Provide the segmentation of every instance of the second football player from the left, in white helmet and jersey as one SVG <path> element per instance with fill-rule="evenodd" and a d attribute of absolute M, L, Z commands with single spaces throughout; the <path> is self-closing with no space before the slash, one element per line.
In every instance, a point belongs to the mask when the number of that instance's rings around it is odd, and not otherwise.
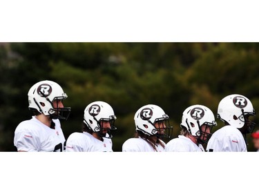
<path fill-rule="evenodd" d="M 82 133 L 72 133 L 66 152 L 112 152 L 111 130 L 116 130 L 113 108 L 104 101 L 94 101 L 84 110 Z"/>

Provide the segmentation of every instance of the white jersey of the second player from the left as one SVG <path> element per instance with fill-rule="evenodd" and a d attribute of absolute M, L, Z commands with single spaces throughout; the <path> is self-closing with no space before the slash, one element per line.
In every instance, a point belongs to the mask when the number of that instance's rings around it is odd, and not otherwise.
<path fill-rule="evenodd" d="M 66 152 L 112 152 L 113 142 L 103 138 L 104 142 L 90 135 L 90 133 L 72 133 L 66 141 Z"/>

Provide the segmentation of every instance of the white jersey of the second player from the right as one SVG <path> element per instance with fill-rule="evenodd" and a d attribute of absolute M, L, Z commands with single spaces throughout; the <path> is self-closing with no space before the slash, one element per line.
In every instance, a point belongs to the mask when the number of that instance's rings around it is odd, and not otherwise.
<path fill-rule="evenodd" d="M 202 144 L 195 144 L 190 138 L 178 135 L 166 144 L 166 152 L 204 152 Z"/>

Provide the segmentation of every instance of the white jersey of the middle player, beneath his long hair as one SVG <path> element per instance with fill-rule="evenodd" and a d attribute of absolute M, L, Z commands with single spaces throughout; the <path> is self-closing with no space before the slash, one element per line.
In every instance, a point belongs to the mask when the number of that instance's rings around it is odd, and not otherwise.
<path fill-rule="evenodd" d="M 162 142 L 162 140 L 160 141 Z M 164 142 L 162 144 L 166 145 Z M 164 152 L 164 148 L 160 144 L 155 144 L 155 148 L 156 150 L 141 137 L 128 139 L 122 145 L 123 152 Z"/>

